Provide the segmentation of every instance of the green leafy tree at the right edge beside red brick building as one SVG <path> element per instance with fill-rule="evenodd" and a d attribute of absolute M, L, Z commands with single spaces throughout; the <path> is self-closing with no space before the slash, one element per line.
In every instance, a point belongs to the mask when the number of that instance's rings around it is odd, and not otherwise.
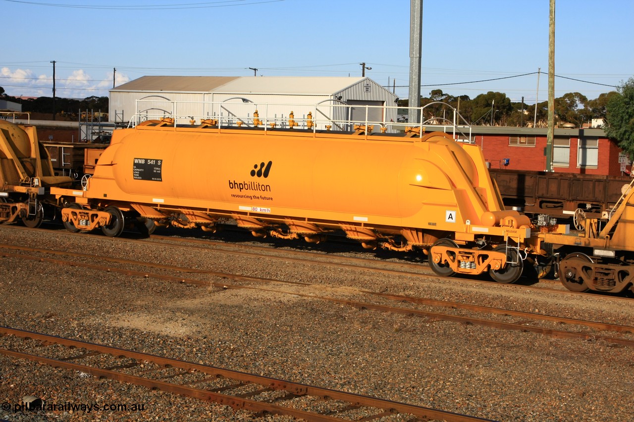
<path fill-rule="evenodd" d="M 605 134 L 634 159 L 634 78 L 610 97 L 605 112 Z"/>

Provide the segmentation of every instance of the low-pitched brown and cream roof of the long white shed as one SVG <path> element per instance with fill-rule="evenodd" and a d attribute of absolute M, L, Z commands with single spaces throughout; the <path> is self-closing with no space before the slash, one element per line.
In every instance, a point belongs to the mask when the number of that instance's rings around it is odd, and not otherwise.
<path fill-rule="evenodd" d="M 333 94 L 365 77 L 143 76 L 110 91 L 197 93 Z"/>

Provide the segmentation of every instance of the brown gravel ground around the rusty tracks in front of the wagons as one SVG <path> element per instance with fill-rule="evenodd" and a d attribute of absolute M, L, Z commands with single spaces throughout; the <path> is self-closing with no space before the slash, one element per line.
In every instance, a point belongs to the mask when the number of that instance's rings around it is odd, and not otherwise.
<path fill-rule="evenodd" d="M 634 325 L 631 305 L 606 297 L 570 298 L 494 283 L 448 283 L 326 264 L 184 252 L 65 231 L 0 226 L 0 238 L 15 245 L 302 281 L 312 285 L 264 287 L 314 295 L 378 302 L 358 290 L 387 290 Z M 183 277 L 218 281 L 208 274 Z M 499 421 L 628 421 L 634 411 L 634 350 L 603 341 L 562 340 L 284 293 L 193 287 L 11 257 L 0 257 L 0 280 L 4 326 Z M 9 357 L 0 356 L 0 371 L 0 402 L 10 406 L 0 410 L 0 419 L 9 421 L 288 420 L 257 418 Z M 136 404 L 143 409 L 16 411 L 25 395 L 56 406 Z"/>

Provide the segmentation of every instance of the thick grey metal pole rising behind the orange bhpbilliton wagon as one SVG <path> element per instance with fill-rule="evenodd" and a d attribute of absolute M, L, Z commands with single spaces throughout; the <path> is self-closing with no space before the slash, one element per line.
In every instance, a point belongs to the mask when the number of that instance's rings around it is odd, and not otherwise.
<path fill-rule="evenodd" d="M 420 53 L 422 51 L 423 0 L 410 0 L 410 95 L 408 122 L 420 123 Z M 415 107 L 415 109 L 413 108 Z"/>

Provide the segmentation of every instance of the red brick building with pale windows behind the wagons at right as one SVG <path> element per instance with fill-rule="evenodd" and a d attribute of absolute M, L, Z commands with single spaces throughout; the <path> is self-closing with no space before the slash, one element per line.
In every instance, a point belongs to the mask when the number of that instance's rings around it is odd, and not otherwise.
<path fill-rule="evenodd" d="M 473 126 L 471 138 L 493 169 L 547 170 L 545 128 Z M 631 162 L 603 129 L 555 129 L 552 148 L 554 172 L 627 176 L 631 171 Z"/>

